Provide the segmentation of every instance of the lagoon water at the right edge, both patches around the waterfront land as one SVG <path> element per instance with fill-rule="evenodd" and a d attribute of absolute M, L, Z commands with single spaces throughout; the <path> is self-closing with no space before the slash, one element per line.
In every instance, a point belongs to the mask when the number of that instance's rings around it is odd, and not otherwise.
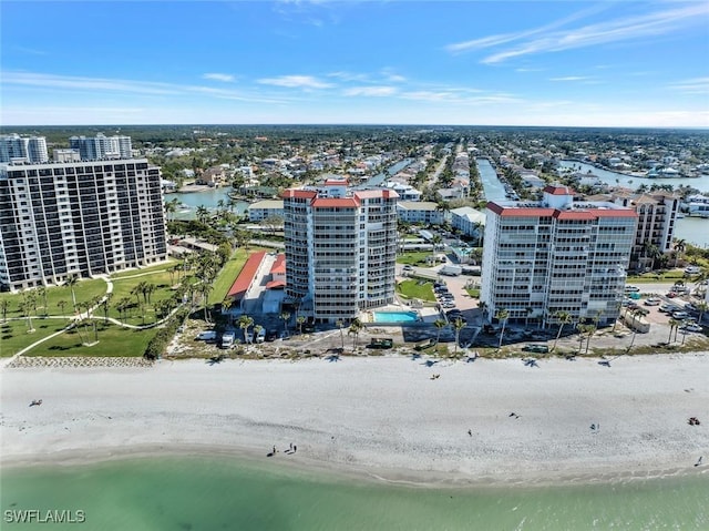
<path fill-rule="evenodd" d="M 609 172 L 607 170 L 576 161 L 561 161 L 559 166 L 572 167 L 580 173 L 588 173 L 590 171 L 602 182 L 612 186 L 620 185 L 636 190 L 643 184 L 647 186 L 651 186 L 653 184 L 671 184 L 675 187 L 686 185 L 705 193 L 709 192 L 709 175 L 702 175 L 701 177 L 696 178 L 644 178 Z M 677 219 L 675 225 L 675 237 L 685 239 L 698 247 L 709 248 L 709 219 L 702 219 L 700 217 L 684 217 Z"/>

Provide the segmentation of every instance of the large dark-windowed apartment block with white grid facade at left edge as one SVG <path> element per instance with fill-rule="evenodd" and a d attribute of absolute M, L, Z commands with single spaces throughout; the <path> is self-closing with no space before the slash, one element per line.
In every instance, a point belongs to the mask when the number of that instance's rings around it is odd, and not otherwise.
<path fill-rule="evenodd" d="M 146 159 L 0 164 L 0 289 L 165 259 L 160 184 Z"/>

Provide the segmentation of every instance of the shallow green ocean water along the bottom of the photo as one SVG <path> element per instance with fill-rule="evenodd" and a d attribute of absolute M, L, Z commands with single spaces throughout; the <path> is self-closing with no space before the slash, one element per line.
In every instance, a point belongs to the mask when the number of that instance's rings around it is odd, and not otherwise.
<path fill-rule="evenodd" d="M 280 461 L 280 462 L 279 462 Z M 709 477 L 592 486 L 420 488 L 229 457 L 10 468 L 2 530 L 707 530 Z M 14 523 L 19 511 L 83 523 Z M 10 512 L 8 512 L 10 511 Z"/>

